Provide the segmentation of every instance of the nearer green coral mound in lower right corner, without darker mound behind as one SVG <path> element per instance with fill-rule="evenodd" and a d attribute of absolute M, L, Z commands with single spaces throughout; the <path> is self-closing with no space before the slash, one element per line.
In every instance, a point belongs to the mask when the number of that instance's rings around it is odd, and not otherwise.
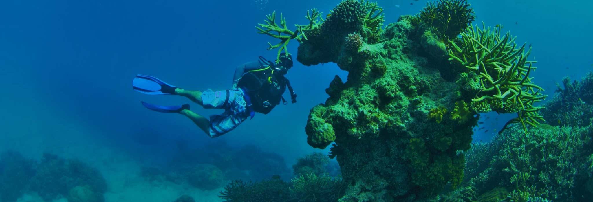
<path fill-rule="evenodd" d="M 524 133 L 519 126 L 466 153 L 468 185 L 498 201 L 586 201 L 593 190 L 593 126 L 551 127 Z M 481 200 L 485 201 L 485 200 Z"/>

